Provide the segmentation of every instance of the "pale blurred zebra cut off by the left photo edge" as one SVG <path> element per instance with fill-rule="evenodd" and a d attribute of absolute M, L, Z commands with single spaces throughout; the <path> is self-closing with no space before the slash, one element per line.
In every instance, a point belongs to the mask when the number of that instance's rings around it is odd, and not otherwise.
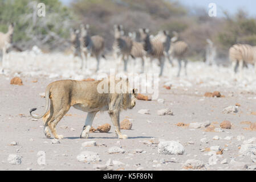
<path fill-rule="evenodd" d="M 13 33 L 14 33 L 14 24 L 11 23 L 8 27 L 8 31 L 4 34 L 0 32 L 0 49 L 2 49 L 2 72 L 5 68 L 6 61 L 6 51 L 13 46 Z"/>

